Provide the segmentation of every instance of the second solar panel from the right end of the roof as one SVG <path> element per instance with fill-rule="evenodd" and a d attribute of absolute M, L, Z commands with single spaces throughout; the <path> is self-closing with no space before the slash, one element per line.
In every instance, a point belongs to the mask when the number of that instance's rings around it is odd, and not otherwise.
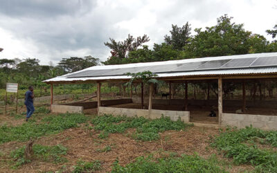
<path fill-rule="evenodd" d="M 256 59 L 256 57 L 233 59 L 224 64 L 220 69 L 249 67 Z"/>

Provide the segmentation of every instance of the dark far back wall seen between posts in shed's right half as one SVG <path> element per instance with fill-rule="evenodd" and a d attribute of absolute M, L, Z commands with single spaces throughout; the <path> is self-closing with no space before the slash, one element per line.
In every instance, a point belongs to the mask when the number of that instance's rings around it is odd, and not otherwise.
<path fill-rule="evenodd" d="M 133 98 L 134 103 L 141 103 L 141 98 Z M 148 99 L 145 98 L 145 103 L 148 103 Z M 164 105 L 184 105 L 184 99 L 153 99 L 152 104 L 164 104 Z M 189 105 L 193 106 L 217 106 L 218 100 L 188 100 Z M 260 108 L 273 108 L 277 105 L 276 100 L 247 100 L 247 107 L 260 107 Z M 242 100 L 223 100 L 223 107 L 242 107 Z"/>

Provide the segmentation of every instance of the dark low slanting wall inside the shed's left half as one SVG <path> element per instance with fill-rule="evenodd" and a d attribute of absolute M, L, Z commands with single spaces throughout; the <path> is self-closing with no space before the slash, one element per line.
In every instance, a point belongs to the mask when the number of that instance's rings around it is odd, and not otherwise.
<path fill-rule="evenodd" d="M 101 100 L 101 106 L 102 107 L 107 107 L 111 105 L 116 105 L 116 104 L 127 104 L 131 103 L 132 99 L 131 98 L 123 98 L 123 99 L 114 99 L 114 100 Z M 84 109 L 92 109 L 97 107 L 97 102 L 73 102 L 69 104 L 63 104 L 63 105 L 69 105 L 69 106 L 78 106 L 78 107 L 83 107 Z"/>

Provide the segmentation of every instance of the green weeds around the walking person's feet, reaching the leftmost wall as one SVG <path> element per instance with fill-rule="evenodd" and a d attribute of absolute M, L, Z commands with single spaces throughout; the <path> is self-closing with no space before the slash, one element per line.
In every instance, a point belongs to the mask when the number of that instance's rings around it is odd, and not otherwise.
<path fill-rule="evenodd" d="M 65 113 L 59 115 L 49 115 L 42 119 L 42 123 L 26 122 L 23 125 L 8 127 L 0 126 L 0 143 L 9 141 L 26 141 L 30 138 L 37 138 L 48 134 L 78 127 L 78 124 L 86 122 L 87 117 L 77 113 Z"/>

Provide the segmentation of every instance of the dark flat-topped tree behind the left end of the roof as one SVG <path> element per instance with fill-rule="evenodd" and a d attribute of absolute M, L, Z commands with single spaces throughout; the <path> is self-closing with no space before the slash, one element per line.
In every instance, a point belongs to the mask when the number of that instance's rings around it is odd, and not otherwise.
<path fill-rule="evenodd" d="M 91 66 L 97 66 L 99 64 L 99 59 L 91 57 L 90 55 L 86 57 L 70 57 L 62 58 L 58 64 L 64 71 L 71 73 Z"/>

